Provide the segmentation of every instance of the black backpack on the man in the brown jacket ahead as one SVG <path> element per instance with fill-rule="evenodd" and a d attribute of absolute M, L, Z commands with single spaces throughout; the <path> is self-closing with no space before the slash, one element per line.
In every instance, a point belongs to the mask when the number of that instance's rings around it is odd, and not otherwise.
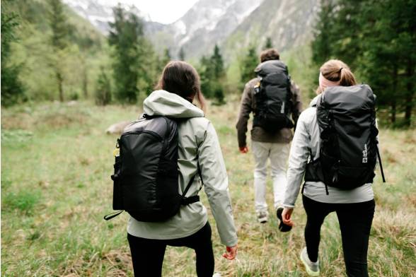
<path fill-rule="evenodd" d="M 279 60 L 265 61 L 255 69 L 255 73 L 260 82 L 254 88 L 253 126 L 260 126 L 269 133 L 293 128 L 289 118 L 292 94 L 287 66 Z"/>

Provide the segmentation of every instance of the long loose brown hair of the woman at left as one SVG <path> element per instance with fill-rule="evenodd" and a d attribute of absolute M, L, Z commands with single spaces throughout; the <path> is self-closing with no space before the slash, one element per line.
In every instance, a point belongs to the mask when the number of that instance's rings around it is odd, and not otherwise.
<path fill-rule="evenodd" d="M 195 68 L 185 61 L 169 61 L 163 69 L 156 89 L 175 93 L 190 102 L 196 97 L 202 110 L 205 111 L 207 107 L 201 92 L 200 76 Z"/>

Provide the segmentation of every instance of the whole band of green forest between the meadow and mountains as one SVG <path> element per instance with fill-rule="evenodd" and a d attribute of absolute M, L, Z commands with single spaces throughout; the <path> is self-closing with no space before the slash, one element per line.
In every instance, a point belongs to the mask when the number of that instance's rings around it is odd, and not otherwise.
<path fill-rule="evenodd" d="M 122 6 L 113 9 L 115 22 L 105 37 L 61 1 L 2 4 L 3 106 L 78 99 L 98 105 L 137 103 L 154 89 L 167 61 L 187 60 L 183 49 L 171 53 L 164 47 L 156 52 L 144 34 L 143 20 Z M 345 61 L 359 81 L 373 88 L 389 126 L 409 127 L 416 82 L 414 15 L 415 1 L 410 0 L 323 0 L 313 40 L 282 56 L 294 64 L 291 74 L 302 80 L 306 97 L 311 97 L 308 87 L 316 86 L 314 72 L 324 61 Z M 216 45 L 211 54 L 190 60 L 200 73 L 204 95 L 221 105 L 228 95 L 241 93 L 255 76 L 260 51 L 273 46 L 267 39 L 265 45 L 253 41 L 243 47 L 238 59 L 224 59 Z M 297 57 L 299 51 L 306 56 Z M 301 60 L 304 57 L 310 59 Z"/>

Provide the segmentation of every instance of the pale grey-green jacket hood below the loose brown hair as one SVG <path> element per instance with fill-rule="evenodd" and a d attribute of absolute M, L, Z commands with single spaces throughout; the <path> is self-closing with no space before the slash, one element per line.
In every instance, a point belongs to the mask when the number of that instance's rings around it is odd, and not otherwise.
<path fill-rule="evenodd" d="M 149 115 L 173 118 L 204 117 L 204 112 L 188 100 L 166 90 L 155 90 L 143 102 L 143 111 Z"/>

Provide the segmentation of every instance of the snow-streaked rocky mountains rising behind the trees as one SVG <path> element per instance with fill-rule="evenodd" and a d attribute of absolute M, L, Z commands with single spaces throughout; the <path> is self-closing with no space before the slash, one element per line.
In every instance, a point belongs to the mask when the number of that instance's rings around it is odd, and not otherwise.
<path fill-rule="evenodd" d="M 108 33 L 112 7 L 118 0 L 64 1 Z M 157 52 L 168 48 L 176 58 L 183 48 L 185 57 L 194 59 L 210 54 L 217 44 L 229 60 L 248 45 L 260 49 L 266 37 L 271 37 L 279 51 L 305 44 L 311 39 L 318 5 L 319 0 L 199 0 L 168 25 L 152 22 L 134 5 L 124 6 L 144 20 L 144 32 Z"/>

